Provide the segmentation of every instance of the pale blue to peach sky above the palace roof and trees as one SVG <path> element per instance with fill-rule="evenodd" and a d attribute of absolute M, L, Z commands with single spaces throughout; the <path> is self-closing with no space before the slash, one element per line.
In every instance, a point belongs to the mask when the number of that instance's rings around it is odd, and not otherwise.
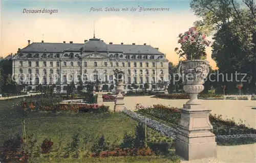
<path fill-rule="evenodd" d="M 177 64 L 178 35 L 199 18 L 189 7 L 190 1 L 5 1 L 1 3 L 0 56 L 16 53 L 31 42 L 83 43 L 93 37 L 105 43 L 146 43 L 166 54 Z M 98 9 L 98 11 L 94 10 Z M 100 10 L 101 8 L 101 10 Z M 106 9 L 107 8 L 107 9 Z M 126 9 L 127 8 L 127 9 Z M 140 11 L 163 8 L 163 11 Z M 57 10 L 56 13 L 26 13 L 31 10 Z M 116 11 L 118 10 L 119 11 Z M 122 11 L 122 9 L 126 9 Z M 136 10 L 135 10 L 136 9 Z M 106 11 L 107 10 L 107 11 Z M 108 11 L 109 10 L 109 11 Z M 112 10 L 112 11 L 110 11 Z M 113 11 L 115 10 L 115 11 Z M 208 37 L 210 40 L 211 37 Z M 212 68 L 210 47 L 207 60 Z"/>

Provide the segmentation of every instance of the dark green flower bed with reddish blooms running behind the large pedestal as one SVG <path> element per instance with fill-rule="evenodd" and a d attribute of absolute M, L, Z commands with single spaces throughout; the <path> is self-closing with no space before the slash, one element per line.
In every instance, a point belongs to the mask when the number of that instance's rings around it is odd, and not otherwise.
<path fill-rule="evenodd" d="M 180 110 L 177 107 L 168 107 L 160 104 L 152 107 L 143 107 L 137 104 L 136 109 L 137 113 L 148 114 L 174 125 L 178 125 L 180 122 Z M 256 129 L 246 127 L 242 123 L 235 123 L 234 120 L 224 120 L 221 115 L 210 114 L 209 120 L 213 126 L 212 132 L 216 135 L 256 134 Z"/>

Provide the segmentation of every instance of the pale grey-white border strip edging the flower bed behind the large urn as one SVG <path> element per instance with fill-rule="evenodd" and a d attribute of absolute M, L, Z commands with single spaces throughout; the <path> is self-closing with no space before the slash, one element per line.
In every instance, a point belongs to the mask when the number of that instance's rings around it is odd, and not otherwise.
<path fill-rule="evenodd" d="M 135 112 L 132 112 L 132 111 L 129 111 L 126 109 L 123 110 L 123 113 L 139 122 L 145 123 L 145 117 L 140 114 L 137 114 Z M 161 122 L 152 120 L 148 117 L 146 117 L 146 121 L 147 121 L 147 125 L 149 127 L 157 130 L 158 132 L 165 135 L 166 137 L 176 139 L 177 128 L 167 126 Z M 256 134 L 249 133 L 249 134 L 233 134 L 233 135 L 216 135 L 217 142 L 222 141 L 222 140 L 236 139 L 236 138 L 254 138 L 254 139 L 256 139 Z"/>

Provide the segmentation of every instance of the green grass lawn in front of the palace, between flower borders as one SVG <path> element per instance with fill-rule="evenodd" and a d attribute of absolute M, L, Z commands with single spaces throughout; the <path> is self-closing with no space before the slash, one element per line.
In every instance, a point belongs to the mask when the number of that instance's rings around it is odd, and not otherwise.
<path fill-rule="evenodd" d="M 39 97 L 28 97 L 28 101 L 38 100 Z M 19 99 L 0 101 L 0 145 L 3 145 L 11 138 L 17 138 L 22 134 L 22 117 L 15 109 L 15 103 Z M 17 106 L 16 106 L 17 107 Z M 25 118 L 27 136 L 36 139 L 36 145 L 40 146 L 45 138 L 54 142 L 53 155 L 51 158 L 40 157 L 38 162 L 174 162 L 163 156 L 146 157 L 109 157 L 109 158 L 55 158 L 58 150 L 65 149 L 71 143 L 74 135 L 78 135 L 79 150 L 86 147 L 91 148 L 101 135 L 104 135 L 106 142 L 110 145 L 120 145 L 125 133 L 134 135 L 137 121 L 127 117 L 123 113 L 111 114 L 69 114 L 32 112 Z M 153 133 L 156 140 L 164 139 L 156 131 L 148 129 Z M 151 136 L 152 137 L 152 136 Z M 150 139 L 150 138 L 149 138 Z M 87 140 L 87 143 L 84 143 Z M 172 140 L 168 140 L 172 141 Z M 174 153 L 174 152 L 172 152 Z M 0 158 L 1 160 L 1 158 Z M 179 160 L 179 159 L 177 159 Z M 37 162 L 33 159 L 32 162 Z"/>

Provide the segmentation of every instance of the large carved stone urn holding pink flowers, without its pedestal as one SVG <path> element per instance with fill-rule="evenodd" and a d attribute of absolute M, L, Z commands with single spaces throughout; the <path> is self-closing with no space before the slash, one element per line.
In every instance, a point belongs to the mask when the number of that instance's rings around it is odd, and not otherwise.
<path fill-rule="evenodd" d="M 204 79 L 209 73 L 208 62 L 204 60 L 182 61 L 180 72 L 183 78 L 183 90 L 190 96 L 186 104 L 201 104 L 197 96 L 204 90 Z"/>

